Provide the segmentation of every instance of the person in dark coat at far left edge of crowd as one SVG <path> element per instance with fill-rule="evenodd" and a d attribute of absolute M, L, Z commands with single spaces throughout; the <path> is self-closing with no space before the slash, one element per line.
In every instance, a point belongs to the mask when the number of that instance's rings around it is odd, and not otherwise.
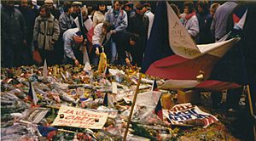
<path fill-rule="evenodd" d="M 26 22 L 14 1 L 3 1 L 1 8 L 1 57 L 3 67 L 24 64 L 22 54 L 27 48 Z"/>

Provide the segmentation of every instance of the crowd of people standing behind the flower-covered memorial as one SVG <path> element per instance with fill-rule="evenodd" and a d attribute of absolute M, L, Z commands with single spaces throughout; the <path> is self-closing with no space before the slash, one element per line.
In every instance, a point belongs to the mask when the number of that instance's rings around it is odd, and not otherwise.
<path fill-rule="evenodd" d="M 97 65 L 102 51 L 110 64 L 142 64 L 154 21 L 149 3 L 114 1 L 113 8 L 107 9 L 106 3 L 98 2 L 93 11 L 88 11 L 81 2 L 66 1 L 62 10 L 55 8 L 53 0 L 45 0 L 40 7 L 36 2 L 20 0 L 19 7 L 15 7 L 14 1 L 3 1 L 3 67 L 40 64 L 32 59 L 34 51 L 49 65 L 79 65 L 84 54 Z M 177 5 L 171 6 L 195 42 L 205 44 L 218 41 L 230 31 L 228 27 L 233 23 L 228 20 L 237 4 L 184 2 L 183 14 Z M 224 10 L 218 11 L 223 12 L 217 11 L 219 6 Z"/>

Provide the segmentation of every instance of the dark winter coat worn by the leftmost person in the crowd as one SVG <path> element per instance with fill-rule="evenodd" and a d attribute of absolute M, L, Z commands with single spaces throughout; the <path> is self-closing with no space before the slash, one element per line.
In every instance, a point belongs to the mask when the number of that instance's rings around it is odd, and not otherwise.
<path fill-rule="evenodd" d="M 1 7 L 1 42 L 2 45 L 12 42 L 20 45 L 26 39 L 26 22 L 20 11 L 14 8 L 10 11 Z"/>

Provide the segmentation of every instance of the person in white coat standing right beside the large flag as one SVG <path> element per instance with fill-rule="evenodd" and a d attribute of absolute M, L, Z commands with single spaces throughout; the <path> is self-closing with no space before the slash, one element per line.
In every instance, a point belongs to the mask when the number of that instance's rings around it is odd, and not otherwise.
<path fill-rule="evenodd" d="M 148 38 L 154 21 L 154 14 L 151 12 L 150 3 L 143 4 L 143 13 L 148 16 Z"/>

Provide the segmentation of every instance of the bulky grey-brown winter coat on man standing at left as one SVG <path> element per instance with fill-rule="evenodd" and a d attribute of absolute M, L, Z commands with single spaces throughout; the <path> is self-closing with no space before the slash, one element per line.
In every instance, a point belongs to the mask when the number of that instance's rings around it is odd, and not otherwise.
<path fill-rule="evenodd" d="M 51 42 L 57 41 L 59 35 L 59 21 L 52 14 L 50 14 L 49 18 L 43 18 L 40 15 L 36 18 L 33 41 L 38 42 L 38 48 L 53 50 L 54 46 Z"/>

